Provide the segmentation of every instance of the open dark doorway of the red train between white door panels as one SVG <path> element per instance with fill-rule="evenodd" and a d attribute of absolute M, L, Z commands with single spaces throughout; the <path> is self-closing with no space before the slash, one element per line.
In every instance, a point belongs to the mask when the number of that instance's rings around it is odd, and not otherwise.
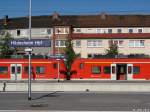
<path fill-rule="evenodd" d="M 127 79 L 127 64 L 117 64 L 117 80 Z"/>

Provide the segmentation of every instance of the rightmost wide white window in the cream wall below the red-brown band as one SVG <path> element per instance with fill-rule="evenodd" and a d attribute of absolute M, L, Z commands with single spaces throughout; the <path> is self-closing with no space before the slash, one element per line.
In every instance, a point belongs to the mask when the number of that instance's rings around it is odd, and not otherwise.
<path fill-rule="evenodd" d="M 129 47 L 144 47 L 144 40 L 129 40 Z"/>

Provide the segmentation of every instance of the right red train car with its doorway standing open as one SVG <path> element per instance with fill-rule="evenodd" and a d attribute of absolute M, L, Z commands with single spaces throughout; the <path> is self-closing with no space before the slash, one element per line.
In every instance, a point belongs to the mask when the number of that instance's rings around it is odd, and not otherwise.
<path fill-rule="evenodd" d="M 71 79 L 150 80 L 150 59 L 76 59 Z"/>

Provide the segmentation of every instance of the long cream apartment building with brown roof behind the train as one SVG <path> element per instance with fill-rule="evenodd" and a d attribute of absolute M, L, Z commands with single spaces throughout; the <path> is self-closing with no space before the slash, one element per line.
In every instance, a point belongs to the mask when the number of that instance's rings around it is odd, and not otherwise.
<path fill-rule="evenodd" d="M 7 19 L 7 20 L 6 20 Z M 28 38 L 28 17 L 5 18 L 15 39 Z M 64 53 L 65 42 L 72 39 L 74 50 L 82 58 L 105 54 L 110 41 L 120 54 L 150 55 L 150 15 L 59 15 L 32 17 L 32 38 L 50 39 L 51 47 L 34 48 L 35 54 Z"/>

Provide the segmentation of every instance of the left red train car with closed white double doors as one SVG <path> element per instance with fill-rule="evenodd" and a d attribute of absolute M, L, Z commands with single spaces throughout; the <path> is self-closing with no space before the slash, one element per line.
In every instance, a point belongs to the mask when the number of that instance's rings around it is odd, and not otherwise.
<path fill-rule="evenodd" d="M 61 59 L 32 59 L 31 66 L 31 76 L 34 80 L 66 77 L 66 67 Z M 0 80 L 26 80 L 28 69 L 28 59 L 0 59 Z"/>

